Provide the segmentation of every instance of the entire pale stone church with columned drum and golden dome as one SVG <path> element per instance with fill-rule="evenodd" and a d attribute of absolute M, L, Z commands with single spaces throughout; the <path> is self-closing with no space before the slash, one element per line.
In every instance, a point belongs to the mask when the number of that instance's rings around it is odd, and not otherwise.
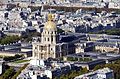
<path fill-rule="evenodd" d="M 41 38 L 33 42 L 33 58 L 58 58 L 68 53 L 68 45 L 61 43 L 56 24 L 52 21 L 52 14 L 48 15 Z"/>

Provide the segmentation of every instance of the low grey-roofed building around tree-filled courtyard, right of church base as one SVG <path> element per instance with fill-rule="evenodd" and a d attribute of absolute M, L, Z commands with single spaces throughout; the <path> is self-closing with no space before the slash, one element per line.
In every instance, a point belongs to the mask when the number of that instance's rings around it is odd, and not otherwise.
<path fill-rule="evenodd" d="M 80 52 L 64 56 L 64 61 L 71 61 L 76 66 L 87 68 L 88 70 L 94 69 L 96 65 L 104 65 L 120 59 L 119 54 L 113 53 L 100 53 L 100 52 Z M 70 60 L 69 60 L 70 59 Z"/>

